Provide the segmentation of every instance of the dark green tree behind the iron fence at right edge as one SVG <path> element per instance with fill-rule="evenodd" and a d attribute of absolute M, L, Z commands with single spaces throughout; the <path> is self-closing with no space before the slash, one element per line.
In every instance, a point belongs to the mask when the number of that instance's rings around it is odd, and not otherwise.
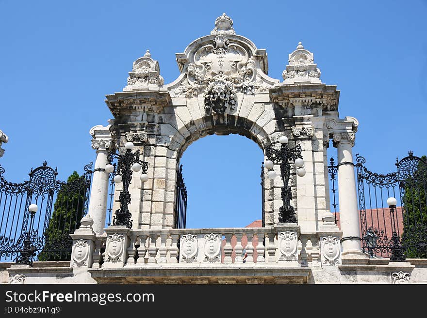
<path fill-rule="evenodd" d="M 402 245 L 407 258 L 427 258 L 427 160 L 419 162 L 413 175 L 405 180 Z"/>

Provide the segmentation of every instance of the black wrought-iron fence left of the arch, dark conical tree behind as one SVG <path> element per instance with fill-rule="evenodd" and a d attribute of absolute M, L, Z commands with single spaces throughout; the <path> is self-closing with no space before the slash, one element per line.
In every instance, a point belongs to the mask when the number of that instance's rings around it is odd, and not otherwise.
<path fill-rule="evenodd" d="M 31 169 L 28 181 L 6 181 L 0 167 L 0 260 L 31 264 L 38 260 L 69 260 L 69 236 L 80 226 L 87 212 L 92 163 L 67 182 L 56 179 L 57 169 L 42 166 Z M 29 212 L 30 204 L 38 211 Z"/>

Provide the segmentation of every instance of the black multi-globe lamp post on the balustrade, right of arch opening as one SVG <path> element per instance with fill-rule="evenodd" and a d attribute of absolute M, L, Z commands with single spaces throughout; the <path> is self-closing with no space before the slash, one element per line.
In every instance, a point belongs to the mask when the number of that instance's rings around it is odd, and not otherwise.
<path fill-rule="evenodd" d="M 283 205 L 279 209 L 279 222 L 280 223 L 296 223 L 295 209 L 291 205 L 292 190 L 289 186 L 289 179 L 291 176 L 291 163 L 297 167 L 296 174 L 300 177 L 305 176 L 304 160 L 301 156 L 301 146 L 296 144 L 295 147 L 288 147 L 288 137 L 281 136 L 279 138 L 280 149 L 277 150 L 272 146 L 265 149 L 265 155 L 268 160 L 265 162 L 264 167 L 268 170 L 268 178 L 276 178 L 276 171 L 272 170 L 274 164 L 280 165 L 280 174 L 283 181 L 281 191 L 281 198 Z"/>

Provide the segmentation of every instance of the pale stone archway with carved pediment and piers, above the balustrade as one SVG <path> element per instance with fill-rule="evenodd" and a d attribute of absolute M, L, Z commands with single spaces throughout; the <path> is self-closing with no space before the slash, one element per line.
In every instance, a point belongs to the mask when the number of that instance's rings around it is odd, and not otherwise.
<path fill-rule="evenodd" d="M 114 119 L 105 129 L 112 132 L 117 148 L 132 141 L 149 164 L 148 182 L 141 184 L 138 173 L 133 174 L 130 210 L 135 227 L 172 228 L 176 170 L 183 151 L 200 137 L 231 133 L 249 137 L 262 150 L 283 135 L 291 144 L 301 144 L 307 173 L 292 173 L 292 205 L 301 233 L 316 233 L 329 207 L 329 139 L 333 137 L 338 148 L 353 145 L 358 122 L 338 118 L 340 92 L 321 82 L 312 52 L 299 43 L 289 54 L 280 82 L 267 76 L 265 49 L 236 34 L 233 21 L 223 14 L 211 34 L 193 41 L 176 60 L 181 75 L 165 85 L 159 63 L 147 50 L 133 63 L 123 91 L 106 96 Z M 347 146 L 342 149 L 348 151 Z M 279 178 L 264 183 L 265 227 L 279 224 L 281 187 Z M 117 197 L 120 190 L 116 187 Z M 348 207 L 357 212 L 353 200 Z"/>

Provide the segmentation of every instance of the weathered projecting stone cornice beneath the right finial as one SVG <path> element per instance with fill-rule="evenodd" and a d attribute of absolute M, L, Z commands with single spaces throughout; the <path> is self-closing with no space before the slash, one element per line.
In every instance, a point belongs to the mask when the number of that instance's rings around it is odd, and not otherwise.
<path fill-rule="evenodd" d="M 323 111 L 338 110 L 340 91 L 336 85 L 277 85 L 269 90 L 271 101 L 283 107 L 300 105 L 319 108 Z"/>

